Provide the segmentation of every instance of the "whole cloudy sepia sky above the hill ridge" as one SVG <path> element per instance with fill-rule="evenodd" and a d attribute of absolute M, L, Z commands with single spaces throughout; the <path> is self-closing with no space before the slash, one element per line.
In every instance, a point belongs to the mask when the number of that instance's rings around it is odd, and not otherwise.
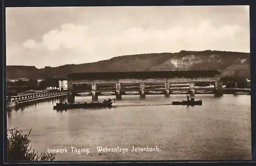
<path fill-rule="evenodd" d="M 6 65 L 181 50 L 249 53 L 249 6 L 6 8 Z"/>

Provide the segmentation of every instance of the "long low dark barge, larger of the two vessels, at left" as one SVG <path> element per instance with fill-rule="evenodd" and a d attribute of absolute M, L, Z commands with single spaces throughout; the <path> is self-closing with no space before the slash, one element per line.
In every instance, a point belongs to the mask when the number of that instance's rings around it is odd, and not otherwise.
<path fill-rule="evenodd" d="M 109 99 L 108 101 L 104 100 L 103 102 L 84 102 L 84 103 L 56 103 L 56 106 L 53 106 L 54 110 L 66 110 L 72 108 L 102 108 L 102 107 L 112 107 L 112 104 L 116 99 Z"/>

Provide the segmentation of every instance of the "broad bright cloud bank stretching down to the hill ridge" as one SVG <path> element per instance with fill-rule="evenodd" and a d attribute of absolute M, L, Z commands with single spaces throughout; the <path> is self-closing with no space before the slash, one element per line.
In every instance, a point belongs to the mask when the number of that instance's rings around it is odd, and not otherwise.
<path fill-rule="evenodd" d="M 93 26 L 63 24 L 42 35 L 36 42 L 23 43 L 29 57 L 37 55 L 31 64 L 45 65 L 87 63 L 115 56 L 179 52 L 180 50 L 223 50 L 249 52 L 250 36 L 244 27 L 237 25 L 212 26 L 210 20 L 197 23 L 196 27 L 176 26 L 169 29 L 134 27 L 116 33 L 103 33 Z M 118 25 L 117 25 L 118 26 Z M 113 27 L 115 28 L 115 27 Z M 50 59 L 55 61 L 49 62 Z M 59 59 L 57 61 L 57 59 Z M 61 64 L 60 64 L 61 63 Z"/>

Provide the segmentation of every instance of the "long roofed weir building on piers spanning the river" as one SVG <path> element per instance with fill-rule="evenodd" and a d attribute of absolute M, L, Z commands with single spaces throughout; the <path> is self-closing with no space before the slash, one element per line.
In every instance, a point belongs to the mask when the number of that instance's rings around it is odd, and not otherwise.
<path fill-rule="evenodd" d="M 194 96 L 195 83 L 209 82 L 214 85 L 212 91 L 221 94 L 222 83 L 218 70 L 173 70 L 157 72 L 101 72 L 101 73 L 71 73 L 67 77 L 70 96 L 77 93 L 90 92 L 92 100 L 97 100 L 101 92 L 115 92 L 116 99 L 121 99 L 122 94 L 129 91 L 137 91 L 141 98 L 148 91 L 162 91 L 169 96 L 174 90 L 182 90 L 180 87 L 171 87 L 175 84 L 188 84 L 183 88 Z M 202 90 L 202 89 L 201 89 Z"/>

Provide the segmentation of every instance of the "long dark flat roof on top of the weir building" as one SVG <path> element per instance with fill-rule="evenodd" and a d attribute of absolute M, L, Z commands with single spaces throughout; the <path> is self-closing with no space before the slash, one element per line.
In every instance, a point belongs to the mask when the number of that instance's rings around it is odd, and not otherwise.
<path fill-rule="evenodd" d="M 186 71 L 161 71 L 161 72 L 95 72 L 95 73 L 71 73 L 68 79 L 143 79 L 143 78 L 198 78 L 203 76 L 219 75 L 218 70 L 186 70 Z"/>

